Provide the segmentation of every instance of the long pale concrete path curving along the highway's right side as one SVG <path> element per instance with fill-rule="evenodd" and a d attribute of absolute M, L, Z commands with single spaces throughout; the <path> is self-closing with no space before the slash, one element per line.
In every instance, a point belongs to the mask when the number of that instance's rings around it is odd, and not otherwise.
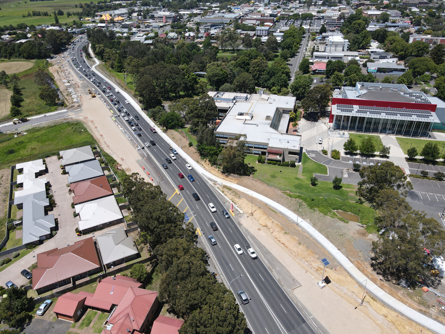
<path fill-rule="evenodd" d="M 92 55 L 91 47 L 89 46 L 89 52 Z M 99 64 L 99 61 L 93 57 L 94 61 L 96 62 L 95 65 L 93 65 L 93 69 L 96 65 Z M 101 78 L 105 79 L 104 76 L 102 76 L 100 73 L 97 73 Z M 110 82 L 110 85 L 114 87 L 114 89 L 119 89 L 119 87 L 116 87 L 113 83 Z M 371 282 L 370 279 L 368 279 L 365 275 L 363 275 L 352 263 L 348 260 L 348 258 L 343 255 L 337 247 L 335 247 L 328 239 L 326 239 L 321 233 L 319 233 L 317 230 L 315 230 L 311 225 L 309 225 L 306 221 L 304 221 L 301 217 L 297 216 L 295 213 L 290 211 L 289 209 L 285 208 L 284 206 L 270 200 L 266 196 L 263 196 L 255 191 L 251 191 L 250 189 L 238 186 L 234 183 L 225 181 L 223 179 L 220 179 L 216 177 L 215 175 L 207 172 L 204 168 L 202 168 L 198 163 L 193 161 L 179 146 L 174 143 L 165 133 L 160 131 L 160 129 L 156 126 L 156 124 L 142 111 L 142 109 L 139 107 L 139 105 L 133 100 L 133 98 L 128 95 L 126 92 L 121 92 L 122 95 L 124 95 L 128 101 L 134 106 L 136 110 L 140 112 L 140 117 L 144 117 L 148 122 L 150 122 L 158 131 L 159 135 L 163 137 L 163 139 L 170 143 L 170 145 L 184 157 L 187 159 L 190 165 L 193 166 L 194 169 L 199 171 L 202 175 L 206 176 L 208 179 L 210 179 L 213 182 L 221 183 L 227 187 L 234 188 L 238 191 L 242 191 L 247 193 L 248 195 L 254 196 L 256 199 L 261 200 L 265 204 L 271 206 L 272 208 L 280 211 L 284 216 L 288 217 L 289 219 L 293 221 L 297 221 L 301 228 L 305 229 L 306 232 L 308 232 L 312 238 L 318 241 L 319 244 L 321 244 L 330 254 L 333 258 L 335 258 L 347 271 L 348 273 L 361 285 L 363 285 L 363 282 L 366 281 L 366 289 L 371 292 L 374 296 L 376 296 L 378 299 L 380 299 L 383 303 L 387 304 L 391 308 L 395 309 L 396 311 L 400 312 L 404 316 L 408 317 L 412 321 L 415 321 L 421 326 L 424 326 L 425 328 L 428 328 L 429 330 L 438 333 L 443 334 L 445 333 L 445 326 L 438 323 L 437 321 L 434 321 L 431 318 L 428 318 L 427 316 L 413 310 L 412 308 L 406 306 L 393 296 L 391 296 L 389 293 L 382 290 L 380 287 L 376 286 L 374 283 Z"/>

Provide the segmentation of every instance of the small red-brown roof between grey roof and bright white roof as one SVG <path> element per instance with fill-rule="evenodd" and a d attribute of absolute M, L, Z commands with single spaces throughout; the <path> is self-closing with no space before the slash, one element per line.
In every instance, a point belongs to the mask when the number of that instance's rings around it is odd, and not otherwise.
<path fill-rule="evenodd" d="M 92 199 L 113 194 L 105 175 L 94 179 L 72 183 L 70 185 L 70 190 L 74 191 L 74 204 L 87 202 Z"/>

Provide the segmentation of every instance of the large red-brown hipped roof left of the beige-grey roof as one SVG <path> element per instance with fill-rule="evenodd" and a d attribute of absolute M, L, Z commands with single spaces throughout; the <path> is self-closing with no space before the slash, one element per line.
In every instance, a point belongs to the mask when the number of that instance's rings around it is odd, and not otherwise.
<path fill-rule="evenodd" d="M 37 254 L 37 268 L 33 269 L 33 289 L 48 286 L 100 267 L 92 238 L 76 241 L 73 245 L 54 248 Z"/>

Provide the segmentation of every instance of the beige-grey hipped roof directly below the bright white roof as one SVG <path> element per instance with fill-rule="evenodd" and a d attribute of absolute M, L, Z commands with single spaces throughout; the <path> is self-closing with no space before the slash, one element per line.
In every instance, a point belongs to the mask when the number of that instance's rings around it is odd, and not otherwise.
<path fill-rule="evenodd" d="M 127 237 L 123 227 L 96 237 L 96 242 L 104 264 L 138 253 L 133 238 Z"/>

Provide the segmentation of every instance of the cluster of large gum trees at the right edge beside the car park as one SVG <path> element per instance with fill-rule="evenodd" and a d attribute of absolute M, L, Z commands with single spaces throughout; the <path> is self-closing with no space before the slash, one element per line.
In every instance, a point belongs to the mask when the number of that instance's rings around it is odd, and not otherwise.
<path fill-rule="evenodd" d="M 406 175 L 391 161 L 362 167 L 362 181 L 356 191 L 379 212 L 376 222 L 385 233 L 372 243 L 372 268 L 394 282 L 404 278 L 411 282 L 434 283 L 430 255 L 444 252 L 445 231 L 434 218 L 412 210 L 406 202 L 406 191 L 412 189 Z"/>

